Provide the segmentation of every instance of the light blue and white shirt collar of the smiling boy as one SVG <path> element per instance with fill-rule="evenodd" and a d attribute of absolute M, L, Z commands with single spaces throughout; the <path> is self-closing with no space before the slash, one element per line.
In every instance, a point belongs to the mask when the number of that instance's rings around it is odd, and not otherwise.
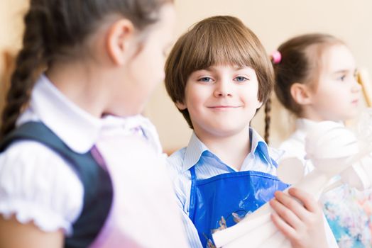
<path fill-rule="evenodd" d="M 271 159 L 268 159 L 268 158 L 271 157 L 272 159 L 276 160 L 283 155 L 283 151 L 269 148 L 266 142 L 261 137 L 261 135 L 259 135 L 255 130 L 253 130 L 253 128 L 249 128 L 249 132 L 250 132 L 250 137 L 251 137 L 250 154 L 261 152 L 263 156 L 267 159 L 268 163 L 270 164 L 272 164 L 272 161 Z M 187 171 L 188 169 L 193 167 L 195 164 L 197 164 L 199 159 L 202 157 L 202 155 L 206 151 L 210 152 L 208 147 L 204 145 L 204 143 L 201 140 L 199 140 L 197 135 L 193 132 L 190 138 L 190 142 L 187 145 L 186 150 L 185 150 L 185 157 L 183 159 L 182 171 Z"/>

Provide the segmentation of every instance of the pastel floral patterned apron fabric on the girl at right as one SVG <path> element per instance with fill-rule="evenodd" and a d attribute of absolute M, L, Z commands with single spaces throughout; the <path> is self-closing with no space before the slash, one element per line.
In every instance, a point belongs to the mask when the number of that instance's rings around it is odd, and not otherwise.
<path fill-rule="evenodd" d="M 320 201 L 340 248 L 372 247 L 372 189 L 343 185 L 324 193 Z"/>

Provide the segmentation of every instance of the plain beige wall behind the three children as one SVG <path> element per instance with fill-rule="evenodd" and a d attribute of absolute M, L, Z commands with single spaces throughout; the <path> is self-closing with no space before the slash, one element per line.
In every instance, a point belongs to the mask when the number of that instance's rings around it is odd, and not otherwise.
<path fill-rule="evenodd" d="M 4 72 L 3 52 L 15 52 L 21 45 L 22 13 L 27 0 L 0 1 L 0 79 Z M 178 14 L 177 35 L 192 24 L 214 15 L 241 18 L 261 39 L 268 52 L 293 35 L 324 32 L 343 39 L 354 52 L 358 64 L 372 74 L 371 0 L 175 0 Z M 0 97 L 4 84 L 0 84 Z M 1 107 L 1 101 L 0 101 Z M 170 152 L 187 145 L 191 130 L 160 86 L 145 113 L 155 123 L 160 140 Z M 292 118 L 274 98 L 270 142 L 273 146 L 291 131 Z M 252 123 L 263 133 L 263 114 Z"/>

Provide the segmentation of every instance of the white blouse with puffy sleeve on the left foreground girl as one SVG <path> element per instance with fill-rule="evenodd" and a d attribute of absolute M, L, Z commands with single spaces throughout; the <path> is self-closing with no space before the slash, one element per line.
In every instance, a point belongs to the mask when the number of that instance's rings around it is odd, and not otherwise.
<path fill-rule="evenodd" d="M 41 120 L 78 153 L 88 152 L 102 129 L 110 126 L 120 126 L 128 133 L 140 126 L 140 135 L 146 136 L 155 152 L 161 152 L 155 128 L 146 118 L 94 118 L 62 95 L 44 75 L 35 84 L 30 105 L 17 125 L 31 120 Z M 72 223 L 82 211 L 83 195 L 82 183 L 71 164 L 45 145 L 17 141 L 0 154 L 0 214 L 5 218 L 15 215 L 19 222 L 32 220 L 45 232 L 63 230 L 70 235 Z"/>

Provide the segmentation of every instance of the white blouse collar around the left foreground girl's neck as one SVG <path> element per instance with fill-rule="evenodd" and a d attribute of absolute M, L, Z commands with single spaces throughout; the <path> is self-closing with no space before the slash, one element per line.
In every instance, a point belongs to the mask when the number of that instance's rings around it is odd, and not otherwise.
<path fill-rule="evenodd" d="M 72 103 L 44 74 L 36 81 L 29 107 L 17 125 L 29 121 L 33 115 L 78 153 L 88 152 L 93 147 L 102 126 L 102 120 Z"/>

